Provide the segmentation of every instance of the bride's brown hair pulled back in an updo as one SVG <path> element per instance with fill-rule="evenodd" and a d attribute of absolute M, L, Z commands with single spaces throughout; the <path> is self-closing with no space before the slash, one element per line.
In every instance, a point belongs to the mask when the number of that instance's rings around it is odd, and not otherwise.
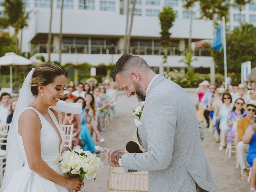
<path fill-rule="evenodd" d="M 35 68 L 32 75 L 31 92 L 38 95 L 38 85 L 48 85 L 54 82 L 57 76 L 65 75 L 65 72 L 53 63 L 43 63 Z"/>

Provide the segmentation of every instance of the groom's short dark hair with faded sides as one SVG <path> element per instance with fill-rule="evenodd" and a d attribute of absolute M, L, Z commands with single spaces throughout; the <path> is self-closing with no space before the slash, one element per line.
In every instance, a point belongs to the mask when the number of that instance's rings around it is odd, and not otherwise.
<path fill-rule="evenodd" d="M 113 70 L 112 78 L 116 82 L 116 75 L 127 76 L 127 70 L 147 70 L 150 69 L 147 62 L 139 57 L 130 54 L 122 55 L 116 62 L 116 66 Z"/>

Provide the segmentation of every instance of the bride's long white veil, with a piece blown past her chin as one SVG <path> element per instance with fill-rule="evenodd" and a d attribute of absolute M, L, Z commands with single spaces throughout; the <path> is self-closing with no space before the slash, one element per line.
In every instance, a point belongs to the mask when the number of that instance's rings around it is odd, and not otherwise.
<path fill-rule="evenodd" d="M 23 166 L 23 158 L 18 146 L 18 117 L 22 110 L 26 108 L 33 100 L 34 96 L 31 92 L 31 82 L 32 74 L 34 68 L 28 73 L 22 88 L 20 90 L 18 102 L 14 111 L 12 118 L 12 124 L 8 134 L 7 146 L 6 146 L 6 167 L 4 172 L 4 179 L 2 181 L 2 186 L 0 192 L 3 192 L 7 185 L 9 184 L 12 176 Z M 73 114 L 81 114 L 82 104 L 80 103 L 66 103 L 64 101 L 59 101 L 56 106 L 51 106 L 54 110 L 60 112 L 68 112 Z"/>

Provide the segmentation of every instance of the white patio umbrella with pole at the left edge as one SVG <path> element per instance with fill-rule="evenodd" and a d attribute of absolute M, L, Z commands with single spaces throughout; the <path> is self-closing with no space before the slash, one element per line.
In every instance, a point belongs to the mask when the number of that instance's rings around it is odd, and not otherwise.
<path fill-rule="evenodd" d="M 12 66 L 31 65 L 33 62 L 25 57 L 16 55 L 15 53 L 6 53 L 0 57 L 0 66 L 10 65 L 10 88 L 12 92 Z"/>

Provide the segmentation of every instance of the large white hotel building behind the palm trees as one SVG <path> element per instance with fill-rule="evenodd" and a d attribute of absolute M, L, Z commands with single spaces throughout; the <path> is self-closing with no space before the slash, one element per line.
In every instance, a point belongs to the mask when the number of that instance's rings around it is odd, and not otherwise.
<path fill-rule="evenodd" d="M 3 2 L 4 0 L 0 0 Z M 50 23 L 51 0 L 24 0 L 30 11 L 28 28 L 23 30 L 22 52 L 32 60 L 41 55 L 47 58 L 47 39 Z M 61 0 L 53 1 L 51 61 L 59 60 L 59 32 Z M 184 57 L 190 29 L 190 12 L 183 8 L 186 0 L 136 0 L 131 34 L 130 54 L 142 56 L 150 66 L 159 66 L 163 49 L 160 46 L 158 13 L 164 6 L 172 6 L 176 20 L 171 28 L 172 43 L 168 47 L 169 66 L 186 67 L 179 61 Z M 129 0 L 130 10 L 132 0 Z M 192 42 L 211 40 L 214 28 L 211 20 L 201 17 L 200 4 L 193 6 Z M 126 28 L 126 0 L 64 0 L 62 65 L 88 62 L 92 65 L 115 63 L 122 55 Z M 4 9 L 0 7 L 0 16 Z M 230 29 L 239 25 L 239 10 L 231 8 Z M 256 24 L 256 0 L 243 7 L 242 21 Z M 207 48 L 195 48 L 198 60 L 195 67 L 214 70 L 214 62 Z"/>

